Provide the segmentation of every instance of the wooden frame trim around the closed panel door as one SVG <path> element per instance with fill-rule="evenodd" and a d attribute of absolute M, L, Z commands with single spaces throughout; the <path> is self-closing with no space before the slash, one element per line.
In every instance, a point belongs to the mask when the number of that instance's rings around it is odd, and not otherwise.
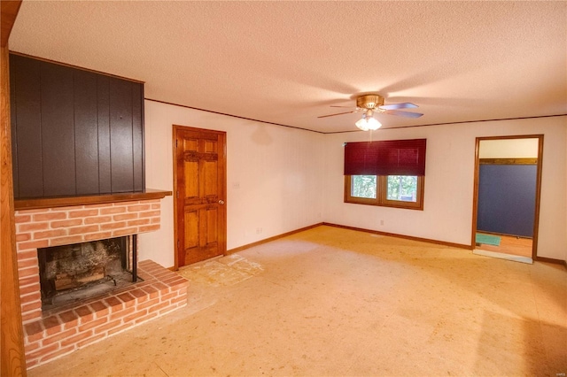
<path fill-rule="evenodd" d="M 179 270 L 179 247 L 181 246 L 179 244 L 179 239 L 177 237 L 178 232 L 177 232 L 177 228 L 178 228 L 178 224 L 177 224 L 177 212 L 179 211 L 178 209 L 178 205 L 177 205 L 177 199 L 179 197 L 179 193 L 178 193 L 178 189 L 177 189 L 177 150 L 176 150 L 176 141 L 177 141 L 177 131 L 196 131 L 196 132 L 206 132 L 206 133 L 210 133 L 210 134 L 217 134 L 217 135 L 222 135 L 223 136 L 223 145 L 222 145 L 222 151 L 221 153 L 219 153 L 219 161 L 221 161 L 221 164 L 224 166 L 223 169 L 223 177 L 222 177 L 222 182 L 223 182 L 223 196 L 224 197 L 224 202 L 225 204 L 223 205 L 224 207 L 224 212 L 223 212 L 223 227 L 222 227 L 222 234 L 218 235 L 219 236 L 219 244 L 220 244 L 220 248 L 222 251 L 222 255 L 227 255 L 227 133 L 226 131 L 219 131 L 219 130 L 214 130 L 214 129 L 208 129 L 208 128 L 198 128 L 198 127 L 190 127 L 190 126 L 181 126 L 181 125 L 172 125 L 172 151 L 173 151 L 173 170 L 174 170 L 174 182 L 173 182 L 173 196 L 174 196 L 174 257 L 175 257 L 175 265 L 174 265 L 174 271 Z"/>

